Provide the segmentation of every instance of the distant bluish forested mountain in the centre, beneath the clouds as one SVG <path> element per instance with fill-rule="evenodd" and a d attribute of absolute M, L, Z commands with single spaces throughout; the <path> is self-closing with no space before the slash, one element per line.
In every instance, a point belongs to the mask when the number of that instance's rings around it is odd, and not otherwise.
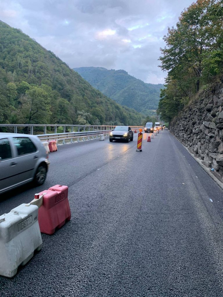
<path fill-rule="evenodd" d="M 146 116 L 151 114 L 148 110 L 158 108 L 160 89 L 164 88 L 162 84 L 144 83 L 124 70 L 108 70 L 103 67 L 80 67 L 73 70 L 109 98 Z"/>

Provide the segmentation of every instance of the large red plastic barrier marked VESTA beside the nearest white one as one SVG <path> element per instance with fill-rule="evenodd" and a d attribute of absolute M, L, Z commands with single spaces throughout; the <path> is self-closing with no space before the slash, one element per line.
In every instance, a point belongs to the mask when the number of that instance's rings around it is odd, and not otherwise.
<path fill-rule="evenodd" d="M 53 234 L 55 228 L 61 228 L 66 221 L 70 221 L 70 205 L 68 201 L 68 187 L 55 185 L 39 195 L 43 195 L 43 205 L 39 208 L 38 220 L 40 232 Z"/>

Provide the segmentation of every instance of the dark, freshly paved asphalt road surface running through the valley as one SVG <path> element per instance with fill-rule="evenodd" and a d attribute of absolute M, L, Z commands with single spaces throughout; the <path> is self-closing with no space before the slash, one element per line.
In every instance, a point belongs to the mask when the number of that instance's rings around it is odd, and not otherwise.
<path fill-rule="evenodd" d="M 0 213 L 55 184 L 71 220 L 1 296 L 223 296 L 223 190 L 163 130 L 151 142 L 91 140 L 50 154 L 45 185 L 0 196 Z"/>

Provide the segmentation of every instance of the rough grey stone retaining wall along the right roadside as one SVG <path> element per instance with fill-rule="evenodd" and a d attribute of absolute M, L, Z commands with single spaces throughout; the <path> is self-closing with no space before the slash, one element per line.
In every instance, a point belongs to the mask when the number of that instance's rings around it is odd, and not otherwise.
<path fill-rule="evenodd" d="M 210 168 L 223 176 L 223 84 L 202 91 L 169 130 Z"/>

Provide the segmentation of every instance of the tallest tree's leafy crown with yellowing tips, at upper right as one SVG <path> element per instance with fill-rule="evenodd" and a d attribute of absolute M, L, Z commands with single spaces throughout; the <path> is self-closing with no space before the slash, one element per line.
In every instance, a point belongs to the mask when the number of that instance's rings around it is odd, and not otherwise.
<path fill-rule="evenodd" d="M 200 89 L 205 72 L 216 67 L 216 58 L 222 49 L 222 1 L 197 0 L 184 10 L 176 28 L 168 28 L 164 36 L 166 47 L 161 49 L 161 68 L 177 80 L 185 79 L 196 91 Z M 210 54 L 211 53 L 211 54 Z"/>

